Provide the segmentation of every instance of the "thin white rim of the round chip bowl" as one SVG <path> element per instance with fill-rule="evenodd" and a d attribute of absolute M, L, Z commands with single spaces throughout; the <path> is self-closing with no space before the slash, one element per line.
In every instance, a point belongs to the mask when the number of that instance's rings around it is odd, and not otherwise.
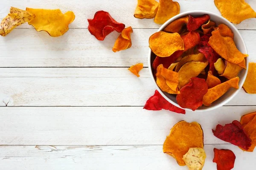
<path fill-rule="evenodd" d="M 180 18 L 180 17 L 184 17 L 184 16 L 189 15 L 189 14 L 191 14 L 191 15 L 195 14 L 195 15 L 196 15 L 196 13 L 199 13 L 199 14 L 204 13 L 204 14 L 213 15 L 213 16 L 215 16 L 215 17 L 218 17 L 220 20 L 224 20 L 224 21 L 226 21 L 227 23 L 229 23 L 229 27 L 232 27 L 233 29 L 235 29 L 236 32 L 237 32 L 237 35 L 241 38 L 241 40 L 242 40 L 241 43 L 242 43 L 242 45 L 244 46 L 244 50 L 246 51 L 246 54 L 248 54 L 247 46 L 246 46 L 246 44 L 245 44 L 245 42 L 244 42 L 244 39 L 243 39 L 243 37 L 241 36 L 239 30 L 238 30 L 229 20 L 227 20 L 226 18 L 222 17 L 222 16 L 219 15 L 219 14 L 216 14 L 216 13 L 213 13 L 213 12 L 209 12 L 209 11 L 194 10 L 194 11 L 186 11 L 186 12 L 177 14 L 176 16 L 170 18 L 170 19 L 167 20 L 165 23 L 163 23 L 163 25 L 157 30 L 157 32 L 162 31 L 169 23 L 171 23 L 171 22 L 174 21 L 174 20 L 177 20 L 177 19 Z M 189 109 L 189 108 L 182 108 L 182 107 L 180 107 L 180 105 L 176 104 L 176 103 L 173 102 L 171 99 L 169 99 L 165 94 L 163 94 L 163 91 L 158 87 L 157 82 L 155 81 L 154 75 L 153 75 L 153 73 L 152 73 L 152 67 L 151 67 L 151 52 L 152 52 L 152 51 L 151 51 L 151 49 L 149 48 L 149 53 L 148 53 L 148 69 L 149 69 L 150 77 L 154 80 L 154 85 L 155 85 L 155 87 L 157 88 L 157 91 L 159 91 L 159 93 L 161 94 L 161 96 L 163 96 L 163 97 L 164 97 L 168 102 L 170 102 L 172 105 L 175 105 L 176 107 L 181 108 L 181 109 L 184 109 L 184 110 L 186 110 L 186 111 L 192 111 L 192 110 Z M 248 57 L 249 57 L 249 56 L 248 56 Z M 249 59 L 248 59 L 248 57 L 247 57 L 247 60 L 246 60 L 246 68 L 247 68 L 247 69 L 246 69 L 246 71 L 245 71 L 245 75 L 244 75 L 244 77 L 242 77 L 242 78 L 239 77 L 239 81 L 241 82 L 242 85 L 244 84 L 244 81 L 245 81 L 245 79 L 246 79 L 247 72 L 248 72 L 248 66 L 249 66 Z M 239 87 L 239 89 L 236 90 L 235 93 L 233 93 L 231 96 L 229 96 L 229 97 L 228 97 L 227 99 L 225 99 L 223 102 L 220 102 L 218 105 L 215 105 L 215 106 L 213 106 L 213 107 L 209 106 L 209 107 L 207 107 L 207 108 L 205 108 L 205 109 L 195 110 L 195 112 L 212 111 L 212 110 L 214 110 L 214 109 L 220 108 L 220 107 L 223 106 L 223 105 L 226 105 L 228 102 L 230 102 L 231 99 L 233 99 L 233 98 L 239 93 L 239 91 L 240 91 L 241 88 L 242 88 L 242 85 L 241 85 L 241 87 Z"/>

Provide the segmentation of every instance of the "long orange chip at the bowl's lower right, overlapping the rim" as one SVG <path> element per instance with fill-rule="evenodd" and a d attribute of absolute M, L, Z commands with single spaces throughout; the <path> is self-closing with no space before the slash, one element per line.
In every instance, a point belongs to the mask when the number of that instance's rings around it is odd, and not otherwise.
<path fill-rule="evenodd" d="M 210 106 L 212 102 L 223 96 L 230 88 L 239 89 L 239 77 L 235 77 L 213 88 L 208 89 L 207 94 L 203 97 L 203 105 Z"/>

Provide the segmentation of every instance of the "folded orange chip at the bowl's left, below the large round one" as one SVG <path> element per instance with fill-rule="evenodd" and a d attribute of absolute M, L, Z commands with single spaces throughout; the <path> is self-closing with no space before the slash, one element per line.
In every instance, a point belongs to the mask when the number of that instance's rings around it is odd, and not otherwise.
<path fill-rule="evenodd" d="M 178 90 L 178 73 L 164 68 L 163 65 L 157 67 L 157 85 L 162 90 L 169 94 L 179 94 Z"/>

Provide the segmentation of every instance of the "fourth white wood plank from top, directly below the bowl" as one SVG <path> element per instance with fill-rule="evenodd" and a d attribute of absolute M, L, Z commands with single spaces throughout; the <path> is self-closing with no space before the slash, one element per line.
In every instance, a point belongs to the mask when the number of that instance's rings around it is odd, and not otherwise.
<path fill-rule="evenodd" d="M 186 115 L 143 107 L 1 107 L 0 145 L 163 144 L 177 122 L 197 121 L 205 144 L 226 144 L 212 134 L 217 124 L 240 120 L 256 106 L 225 106 Z"/>

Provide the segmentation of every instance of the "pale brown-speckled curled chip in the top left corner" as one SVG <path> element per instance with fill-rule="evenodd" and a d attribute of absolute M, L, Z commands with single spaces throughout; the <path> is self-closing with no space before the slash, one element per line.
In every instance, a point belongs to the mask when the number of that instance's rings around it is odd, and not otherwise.
<path fill-rule="evenodd" d="M 6 36 L 14 28 L 35 18 L 34 14 L 19 8 L 11 7 L 8 14 L 0 23 L 0 35 Z"/>

